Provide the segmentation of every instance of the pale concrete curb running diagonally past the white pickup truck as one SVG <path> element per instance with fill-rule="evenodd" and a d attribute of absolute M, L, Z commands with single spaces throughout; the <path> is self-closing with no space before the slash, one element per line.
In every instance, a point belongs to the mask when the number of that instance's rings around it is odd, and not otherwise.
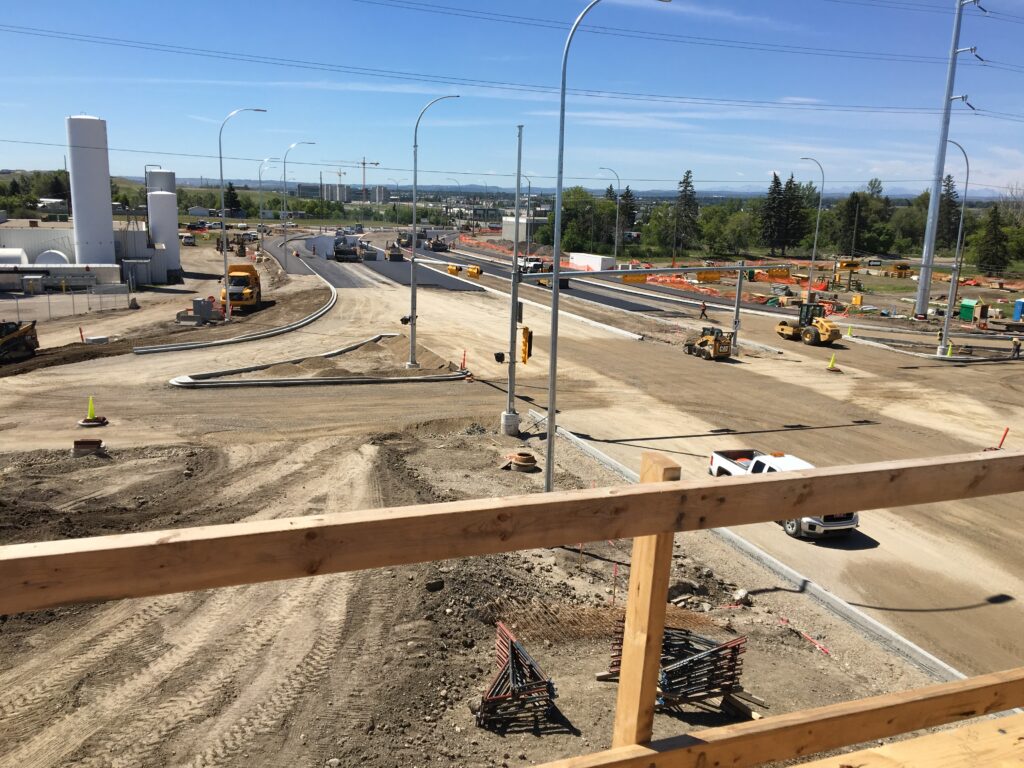
<path fill-rule="evenodd" d="M 538 422 L 543 422 L 546 419 L 543 414 L 540 414 L 537 411 L 530 410 L 528 413 L 530 418 L 537 419 Z M 621 475 L 626 480 L 630 482 L 640 481 L 640 475 L 632 469 L 625 466 L 621 462 L 615 461 L 610 456 L 605 455 L 580 436 L 569 432 L 567 429 L 558 427 L 558 434 L 588 456 L 593 457 L 605 467 Z M 760 563 L 778 578 L 797 587 L 801 594 L 805 594 L 813 598 L 840 618 L 854 626 L 862 634 L 866 635 L 874 642 L 891 650 L 907 662 L 910 662 L 910 664 L 931 675 L 934 679 L 945 682 L 951 680 L 964 680 L 967 678 L 967 675 L 959 670 L 956 670 L 943 662 L 941 658 L 929 653 L 920 645 L 916 645 L 902 635 L 889 629 L 881 622 L 871 618 L 871 616 L 867 615 L 859 608 L 855 608 L 843 598 L 834 595 L 831 592 L 812 582 L 807 577 L 794 570 L 788 565 L 772 557 L 767 552 L 746 541 L 738 534 L 735 534 L 728 528 L 712 528 L 711 530 L 715 536 L 719 537 L 742 554 L 746 555 L 746 557 L 757 563 Z"/>

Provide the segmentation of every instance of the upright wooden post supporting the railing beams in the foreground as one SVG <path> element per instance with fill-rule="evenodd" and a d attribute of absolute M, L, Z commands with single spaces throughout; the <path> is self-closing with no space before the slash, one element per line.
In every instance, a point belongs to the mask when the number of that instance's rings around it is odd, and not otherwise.
<path fill-rule="evenodd" d="M 640 482 L 679 478 L 679 465 L 668 457 L 653 452 L 641 457 Z M 654 727 L 673 538 L 668 531 L 633 540 L 612 748 L 645 743 Z"/>

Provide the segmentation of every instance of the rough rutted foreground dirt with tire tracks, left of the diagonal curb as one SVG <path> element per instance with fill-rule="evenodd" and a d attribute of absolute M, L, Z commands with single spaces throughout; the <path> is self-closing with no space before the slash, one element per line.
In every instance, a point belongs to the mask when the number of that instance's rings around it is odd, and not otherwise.
<path fill-rule="evenodd" d="M 499 469 L 522 445 L 466 418 L 284 453 L 269 443 L 4 455 L 0 541 L 538 492 L 541 473 Z M 574 452 L 563 466 L 560 487 L 615 481 Z M 210 504 L 225 477 L 237 477 L 230 502 Z M 629 557 L 625 541 L 582 555 L 567 545 L 6 616 L 0 766 L 499 766 L 603 749 L 615 685 L 595 675 L 607 669 Z M 752 606 L 736 604 L 740 586 Z M 748 637 L 743 682 L 766 713 L 924 682 L 766 573 L 737 567 L 710 537 L 677 545 L 671 594 L 692 594 L 694 608 L 671 608 L 671 626 Z M 496 621 L 554 680 L 550 721 L 476 726 L 470 706 L 495 672 Z M 688 708 L 659 715 L 655 735 L 725 722 Z"/>

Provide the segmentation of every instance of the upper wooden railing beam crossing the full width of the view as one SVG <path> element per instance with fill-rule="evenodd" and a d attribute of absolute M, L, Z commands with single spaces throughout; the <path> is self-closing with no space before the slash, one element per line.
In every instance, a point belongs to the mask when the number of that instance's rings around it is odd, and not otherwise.
<path fill-rule="evenodd" d="M 558 492 L 0 548 L 0 614 L 1024 490 L 1024 454 Z"/>

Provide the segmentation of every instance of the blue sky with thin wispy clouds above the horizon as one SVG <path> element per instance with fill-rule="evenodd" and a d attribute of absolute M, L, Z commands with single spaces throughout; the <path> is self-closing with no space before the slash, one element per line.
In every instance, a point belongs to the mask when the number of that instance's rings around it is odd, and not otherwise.
<path fill-rule="evenodd" d="M 961 45 L 977 45 L 986 59 L 1012 67 L 982 67 L 962 55 L 954 92 L 970 94 L 979 110 L 1024 116 L 1024 0 L 982 4 L 992 15 L 969 6 Z M 435 96 L 459 93 L 459 100 L 432 108 L 421 124 L 421 183 L 454 185 L 457 178 L 511 186 L 510 175 L 500 174 L 515 171 L 515 126 L 522 123 L 524 171 L 535 175 L 536 185 L 549 186 L 556 162 L 555 93 L 430 81 L 557 86 L 566 34 L 559 26 L 583 6 L 583 0 L 178 6 L 51 0 L 40 13 L 11 4 L 0 20 L 0 167 L 59 167 L 65 117 L 90 114 L 108 121 L 112 147 L 146 151 L 112 152 L 113 173 L 139 176 L 144 164 L 156 163 L 179 176 L 215 176 L 223 116 L 238 106 L 263 106 L 266 115 L 244 114 L 228 124 L 226 156 L 280 157 L 292 141 L 312 140 L 314 146 L 289 156 L 290 178 L 315 181 L 324 171 L 325 180 L 334 181 L 340 167 L 345 181 L 357 183 L 359 171 L 350 166 L 365 156 L 384 168 L 368 170 L 368 183 L 409 183 L 417 114 Z M 569 86 L 656 98 L 570 96 L 566 178 L 600 186 L 611 176 L 598 169 L 610 166 L 624 185 L 671 188 L 690 168 L 698 188 L 760 190 L 772 171 L 815 179 L 817 169 L 799 160 L 811 155 L 825 167 L 827 188 L 855 188 L 872 176 L 891 189 L 925 188 L 938 139 L 933 113 L 943 96 L 952 6 L 951 0 L 604 0 L 587 22 L 601 31 L 583 31 L 573 43 Z M 10 31 L 17 27 L 227 57 Z M 764 47 L 769 50 L 758 49 Z M 897 60 L 836 55 L 843 51 L 896 54 Z M 410 76 L 379 77 L 382 71 Z M 781 105 L 681 103 L 664 96 Z M 834 104 L 929 112 L 823 109 Z M 953 105 L 950 137 L 971 155 L 972 186 L 1024 181 L 1022 129 L 1019 120 Z M 255 178 L 257 165 L 228 160 L 225 174 Z M 947 170 L 962 176 L 958 153 L 949 156 Z M 280 166 L 267 175 L 280 178 Z"/>

